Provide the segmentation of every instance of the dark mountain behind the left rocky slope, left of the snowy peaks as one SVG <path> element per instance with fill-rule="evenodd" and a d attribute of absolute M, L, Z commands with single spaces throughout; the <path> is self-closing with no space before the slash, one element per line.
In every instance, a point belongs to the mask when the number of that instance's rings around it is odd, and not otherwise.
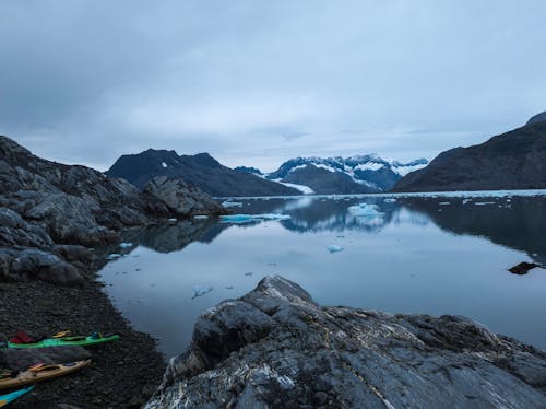
<path fill-rule="evenodd" d="M 178 155 L 175 151 L 154 150 L 122 155 L 106 172 L 142 188 L 155 176 L 181 178 L 212 196 L 283 196 L 299 191 L 247 172 L 223 166 L 209 153 Z"/>

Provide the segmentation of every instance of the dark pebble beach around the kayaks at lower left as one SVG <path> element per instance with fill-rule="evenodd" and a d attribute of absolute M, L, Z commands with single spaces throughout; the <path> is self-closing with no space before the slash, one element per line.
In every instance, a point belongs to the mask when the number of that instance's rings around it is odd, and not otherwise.
<path fill-rule="evenodd" d="M 96 274 L 95 274 L 96 276 Z M 165 357 L 156 340 L 134 330 L 116 309 L 98 281 L 84 288 L 46 282 L 0 283 L 0 334 L 26 330 L 32 336 L 70 329 L 74 335 L 118 332 L 120 339 L 93 348 L 91 367 L 36 385 L 12 404 L 14 409 L 140 408 L 153 395 L 165 372 Z"/>

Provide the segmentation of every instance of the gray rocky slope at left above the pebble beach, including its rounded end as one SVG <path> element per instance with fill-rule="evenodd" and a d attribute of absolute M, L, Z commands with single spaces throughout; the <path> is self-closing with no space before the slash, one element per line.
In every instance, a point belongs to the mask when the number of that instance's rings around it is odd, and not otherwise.
<path fill-rule="evenodd" d="M 181 182 L 155 183 L 143 194 L 126 180 L 43 160 L 0 137 L 0 280 L 81 285 L 94 247 L 116 242 L 127 227 L 198 211 L 216 214 L 222 207 Z"/>

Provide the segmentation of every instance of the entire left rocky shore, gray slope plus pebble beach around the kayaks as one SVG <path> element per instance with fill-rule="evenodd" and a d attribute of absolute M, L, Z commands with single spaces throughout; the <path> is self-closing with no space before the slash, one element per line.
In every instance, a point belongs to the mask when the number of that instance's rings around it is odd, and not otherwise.
<path fill-rule="evenodd" d="M 114 308 L 96 271 L 128 231 L 178 220 L 191 225 L 194 214 L 224 212 L 180 179 L 152 179 L 140 191 L 85 166 L 37 157 L 0 137 L 0 332 L 51 336 L 70 329 L 73 335 L 121 336 L 88 352 L 71 349 L 70 359 L 91 352 L 92 366 L 38 385 L 13 408 L 141 407 L 159 383 L 165 362 L 154 339 L 134 331 Z M 22 362 L 68 359 L 68 351 L 36 350 Z M 16 369 L 12 352 L 0 351 L 2 367 Z"/>

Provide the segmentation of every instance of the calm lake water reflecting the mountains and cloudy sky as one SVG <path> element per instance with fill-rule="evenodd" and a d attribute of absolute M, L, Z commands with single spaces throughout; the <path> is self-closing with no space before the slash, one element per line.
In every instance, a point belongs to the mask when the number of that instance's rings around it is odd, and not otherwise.
<path fill-rule="evenodd" d="M 508 271 L 546 264 L 546 191 L 235 200 L 236 213 L 290 218 L 135 231 L 100 272 L 115 305 L 167 357 L 185 350 L 204 309 L 268 274 L 324 305 L 464 315 L 546 349 L 546 270 Z M 349 211 L 364 202 L 383 214 Z"/>

